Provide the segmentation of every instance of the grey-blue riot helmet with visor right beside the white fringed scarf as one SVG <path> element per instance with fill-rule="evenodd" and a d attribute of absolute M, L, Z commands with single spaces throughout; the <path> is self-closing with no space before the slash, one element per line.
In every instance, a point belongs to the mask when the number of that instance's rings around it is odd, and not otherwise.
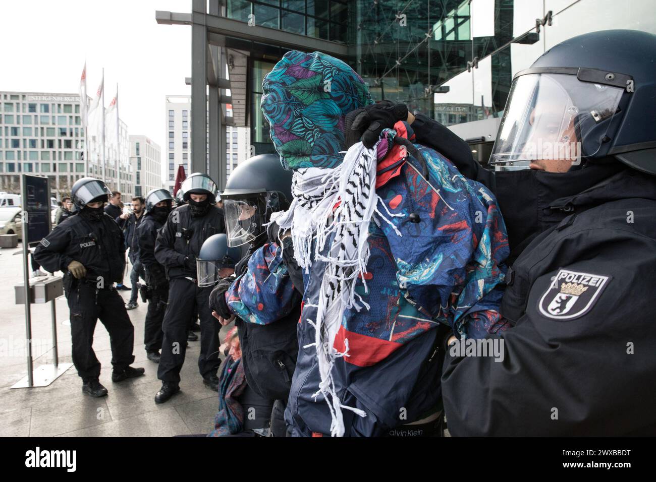
<path fill-rule="evenodd" d="M 221 193 L 228 246 L 253 243 L 266 234 L 271 213 L 289 207 L 291 178 L 274 154 L 256 155 L 237 166 Z"/>

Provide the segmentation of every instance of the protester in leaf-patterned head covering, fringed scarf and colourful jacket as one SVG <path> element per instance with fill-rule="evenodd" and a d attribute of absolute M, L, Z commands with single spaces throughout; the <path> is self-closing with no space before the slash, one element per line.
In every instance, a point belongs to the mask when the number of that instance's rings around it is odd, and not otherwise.
<path fill-rule="evenodd" d="M 262 87 L 274 146 L 294 171 L 291 207 L 272 219 L 304 270 L 289 432 L 440 433 L 443 333 L 504 329 L 508 249 L 493 195 L 415 146 L 404 123 L 377 149 L 344 153 L 346 113 L 372 101 L 340 60 L 287 52 Z M 281 307 L 261 296 L 241 294 L 239 316 L 275 323 L 267 313 Z"/>

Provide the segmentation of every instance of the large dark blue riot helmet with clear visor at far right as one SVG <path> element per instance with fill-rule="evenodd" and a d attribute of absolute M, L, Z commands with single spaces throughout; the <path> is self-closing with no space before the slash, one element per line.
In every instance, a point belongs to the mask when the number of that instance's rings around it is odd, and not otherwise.
<path fill-rule="evenodd" d="M 514 76 L 490 164 L 565 170 L 615 156 L 656 174 L 656 35 L 605 30 L 568 39 Z"/>

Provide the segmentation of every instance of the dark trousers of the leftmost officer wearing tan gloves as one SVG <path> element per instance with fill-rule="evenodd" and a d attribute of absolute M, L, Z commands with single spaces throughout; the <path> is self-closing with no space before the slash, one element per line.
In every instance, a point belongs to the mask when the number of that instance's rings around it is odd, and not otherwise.
<path fill-rule="evenodd" d="M 123 298 L 115 289 L 96 289 L 93 283 L 77 283 L 66 296 L 70 308 L 73 338 L 73 365 L 85 382 L 100 376 L 100 362 L 94 353 L 96 322 L 110 333 L 114 371 L 123 371 L 134 361 L 134 327 Z"/>

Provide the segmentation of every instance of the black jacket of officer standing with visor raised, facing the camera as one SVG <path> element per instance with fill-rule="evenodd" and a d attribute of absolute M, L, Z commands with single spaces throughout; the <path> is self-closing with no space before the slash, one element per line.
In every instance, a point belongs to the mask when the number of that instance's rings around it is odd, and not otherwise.
<path fill-rule="evenodd" d="M 196 272 L 184 266 L 184 258 L 195 258 L 201 251 L 205 239 L 226 232 L 223 214 L 215 205 L 210 205 L 203 216 L 192 217 L 189 205 L 180 206 L 169 214 L 159 230 L 155 242 L 155 258 L 166 268 L 169 279 L 196 277 Z"/>

